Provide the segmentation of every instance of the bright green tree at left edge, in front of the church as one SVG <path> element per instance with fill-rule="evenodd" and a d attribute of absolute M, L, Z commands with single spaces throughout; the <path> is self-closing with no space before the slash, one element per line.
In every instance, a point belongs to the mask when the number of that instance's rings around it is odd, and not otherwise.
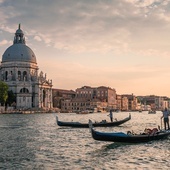
<path fill-rule="evenodd" d="M 0 103 L 2 105 L 5 105 L 6 101 L 8 99 L 8 85 L 0 81 Z"/>

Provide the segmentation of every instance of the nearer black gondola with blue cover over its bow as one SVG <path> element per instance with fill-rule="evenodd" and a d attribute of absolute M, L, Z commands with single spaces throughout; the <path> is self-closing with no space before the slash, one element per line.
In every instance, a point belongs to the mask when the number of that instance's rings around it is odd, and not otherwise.
<path fill-rule="evenodd" d="M 123 132 L 99 132 L 93 128 L 92 122 L 89 122 L 89 128 L 93 139 L 108 142 L 121 143 L 143 143 L 154 140 L 167 138 L 170 135 L 170 130 L 159 130 L 151 134 L 126 134 Z"/>

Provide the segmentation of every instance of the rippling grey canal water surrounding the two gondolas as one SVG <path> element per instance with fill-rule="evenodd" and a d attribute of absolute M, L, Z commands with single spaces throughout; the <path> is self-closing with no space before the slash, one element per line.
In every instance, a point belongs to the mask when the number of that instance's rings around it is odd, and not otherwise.
<path fill-rule="evenodd" d="M 142 144 L 116 144 L 91 138 L 89 129 L 61 128 L 63 121 L 108 120 L 108 113 L 0 115 L 0 169 L 79 170 L 79 169 L 170 169 L 170 138 Z M 114 113 L 118 120 L 128 112 Z M 132 119 L 119 126 L 96 128 L 100 131 L 134 130 L 161 126 L 161 112 L 133 112 Z"/>

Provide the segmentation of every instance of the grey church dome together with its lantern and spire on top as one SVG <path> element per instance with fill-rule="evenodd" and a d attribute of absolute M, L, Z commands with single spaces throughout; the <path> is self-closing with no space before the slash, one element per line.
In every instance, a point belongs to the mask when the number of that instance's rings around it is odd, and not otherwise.
<path fill-rule="evenodd" d="M 2 55 L 2 63 L 15 61 L 37 63 L 34 52 L 25 45 L 25 38 L 23 31 L 20 29 L 20 25 L 15 33 L 13 45 L 7 48 Z"/>

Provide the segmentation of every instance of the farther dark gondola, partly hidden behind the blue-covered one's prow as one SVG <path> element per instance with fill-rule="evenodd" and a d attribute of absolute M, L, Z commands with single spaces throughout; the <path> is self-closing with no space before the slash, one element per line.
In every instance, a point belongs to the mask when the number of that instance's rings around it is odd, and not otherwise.
<path fill-rule="evenodd" d="M 119 121 L 114 121 L 114 122 L 106 122 L 106 121 L 101 121 L 101 122 L 96 122 L 93 124 L 94 127 L 113 127 L 113 126 L 119 126 L 131 119 L 131 115 L 129 114 L 128 117 L 119 120 Z M 58 117 L 56 116 L 56 122 L 58 126 L 69 126 L 69 127 L 75 127 L 75 128 L 89 128 L 88 123 L 80 123 L 80 122 L 63 122 L 59 121 Z"/>

